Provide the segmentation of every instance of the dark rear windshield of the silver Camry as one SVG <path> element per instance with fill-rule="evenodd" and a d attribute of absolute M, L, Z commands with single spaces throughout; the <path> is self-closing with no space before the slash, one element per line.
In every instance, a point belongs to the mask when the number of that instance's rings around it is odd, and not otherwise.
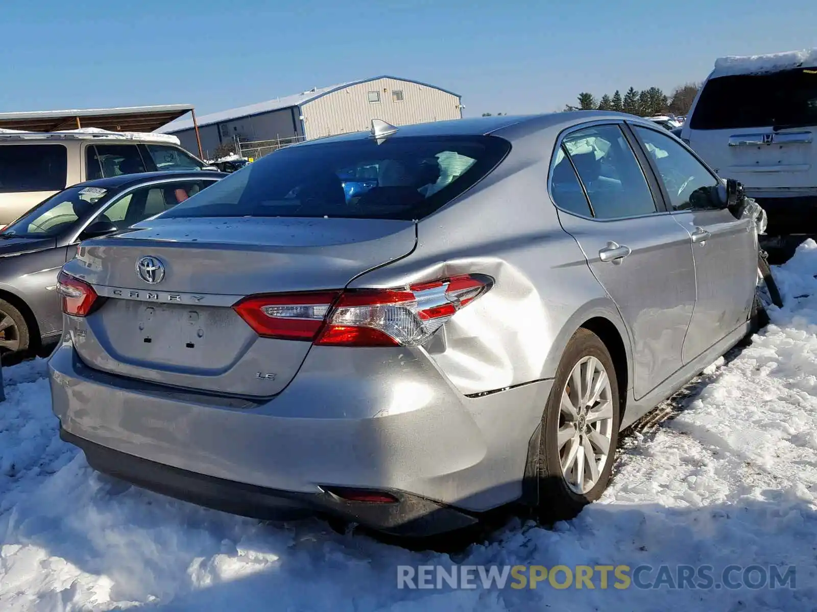
<path fill-rule="evenodd" d="M 422 219 L 488 174 L 510 148 L 493 136 L 294 146 L 262 157 L 162 216 Z"/>

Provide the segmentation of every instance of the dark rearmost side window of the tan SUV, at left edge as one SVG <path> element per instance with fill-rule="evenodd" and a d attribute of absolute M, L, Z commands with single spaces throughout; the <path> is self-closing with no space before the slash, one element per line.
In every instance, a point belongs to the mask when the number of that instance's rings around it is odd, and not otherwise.
<path fill-rule="evenodd" d="M 68 149 L 62 144 L 0 146 L 0 193 L 59 191 L 67 173 Z"/>

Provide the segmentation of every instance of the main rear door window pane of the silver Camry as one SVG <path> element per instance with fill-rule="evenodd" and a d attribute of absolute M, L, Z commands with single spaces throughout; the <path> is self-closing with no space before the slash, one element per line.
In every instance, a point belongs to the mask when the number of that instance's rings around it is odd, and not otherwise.
<path fill-rule="evenodd" d="M 618 126 L 593 126 L 566 135 L 562 144 L 582 180 L 596 219 L 656 211 L 653 193 Z"/>

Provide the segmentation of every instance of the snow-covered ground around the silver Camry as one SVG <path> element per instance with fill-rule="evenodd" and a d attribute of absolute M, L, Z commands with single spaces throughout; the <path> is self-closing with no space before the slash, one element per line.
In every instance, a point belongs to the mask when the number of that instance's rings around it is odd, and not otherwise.
<path fill-rule="evenodd" d="M 96 475 L 59 440 L 45 362 L 6 370 L 0 609 L 815 610 L 817 244 L 775 269 L 787 306 L 623 442 L 604 499 L 451 557 L 324 522 L 260 524 Z M 795 565 L 796 588 L 409 590 L 397 565 Z M 739 575 L 739 574 L 735 574 Z M 654 578 L 655 574 L 653 574 Z"/>

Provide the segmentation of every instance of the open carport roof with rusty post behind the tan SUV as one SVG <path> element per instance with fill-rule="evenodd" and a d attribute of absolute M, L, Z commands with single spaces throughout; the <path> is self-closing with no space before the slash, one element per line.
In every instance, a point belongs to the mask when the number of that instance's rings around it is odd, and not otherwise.
<path fill-rule="evenodd" d="M 150 132 L 180 118 L 193 115 L 199 157 L 203 157 L 199 139 L 199 124 L 194 107 L 190 104 L 167 104 L 164 106 L 132 106 L 122 109 L 83 110 L 36 110 L 22 113 L 0 113 L 0 128 L 29 132 L 76 130 L 98 127 L 108 131 Z"/>

